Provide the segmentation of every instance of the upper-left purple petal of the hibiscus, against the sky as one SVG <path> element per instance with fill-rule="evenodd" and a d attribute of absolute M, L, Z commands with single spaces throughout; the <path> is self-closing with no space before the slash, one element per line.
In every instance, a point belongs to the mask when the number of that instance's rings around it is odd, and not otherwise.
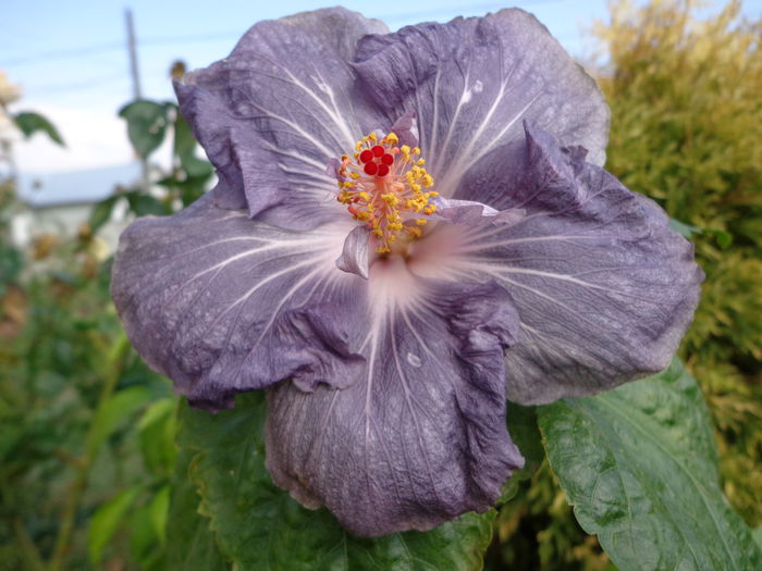
<path fill-rule="evenodd" d="M 385 29 L 342 8 L 261 22 L 229 58 L 175 84 L 183 115 L 226 183 L 218 204 L 245 203 L 253 218 L 294 229 L 341 212 L 325 165 L 383 125 L 355 91 L 347 62 L 362 35 Z"/>

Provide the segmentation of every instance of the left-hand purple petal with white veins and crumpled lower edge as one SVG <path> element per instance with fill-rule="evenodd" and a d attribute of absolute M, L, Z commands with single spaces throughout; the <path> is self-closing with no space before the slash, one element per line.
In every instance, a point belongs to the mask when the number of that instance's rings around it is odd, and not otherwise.
<path fill-rule="evenodd" d="M 292 233 L 211 202 L 122 234 L 112 297 L 135 349 L 210 410 L 285 377 L 345 386 L 365 367 L 346 311 L 367 282 L 335 266 L 351 225 Z"/>

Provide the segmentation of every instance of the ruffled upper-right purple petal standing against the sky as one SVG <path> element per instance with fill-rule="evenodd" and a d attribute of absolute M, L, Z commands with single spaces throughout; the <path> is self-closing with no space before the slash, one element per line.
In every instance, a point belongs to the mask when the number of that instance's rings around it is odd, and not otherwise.
<path fill-rule="evenodd" d="M 595 82 L 521 10 L 368 36 L 354 66 L 390 116 L 416 112 L 427 170 L 444 196 L 496 149 L 520 158 L 524 119 L 582 145 L 595 164 L 605 160 L 609 109 Z"/>

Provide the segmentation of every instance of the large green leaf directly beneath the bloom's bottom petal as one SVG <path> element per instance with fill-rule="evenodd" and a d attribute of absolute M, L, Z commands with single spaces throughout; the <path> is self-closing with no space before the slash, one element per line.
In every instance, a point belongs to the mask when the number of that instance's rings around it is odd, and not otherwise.
<path fill-rule="evenodd" d="M 492 537 L 494 511 L 467 513 L 427 533 L 376 539 L 346 533 L 327 510 L 308 510 L 274 486 L 265 469 L 265 396 L 238 397 L 218 414 L 181 407 L 179 444 L 195 450 L 189 474 L 220 549 L 241 569 L 476 570 Z M 170 529 L 172 523 L 170 523 Z"/>

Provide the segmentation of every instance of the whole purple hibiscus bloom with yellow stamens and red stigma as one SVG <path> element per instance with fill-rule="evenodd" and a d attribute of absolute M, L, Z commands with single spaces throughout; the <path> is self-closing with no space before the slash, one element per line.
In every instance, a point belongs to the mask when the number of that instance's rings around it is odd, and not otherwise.
<path fill-rule="evenodd" d="M 255 25 L 176 84 L 219 184 L 123 234 L 130 338 L 192 405 L 268 389 L 267 467 L 353 533 L 489 509 L 539 405 L 660 371 L 701 271 L 601 169 L 609 113 L 533 16 Z"/>

